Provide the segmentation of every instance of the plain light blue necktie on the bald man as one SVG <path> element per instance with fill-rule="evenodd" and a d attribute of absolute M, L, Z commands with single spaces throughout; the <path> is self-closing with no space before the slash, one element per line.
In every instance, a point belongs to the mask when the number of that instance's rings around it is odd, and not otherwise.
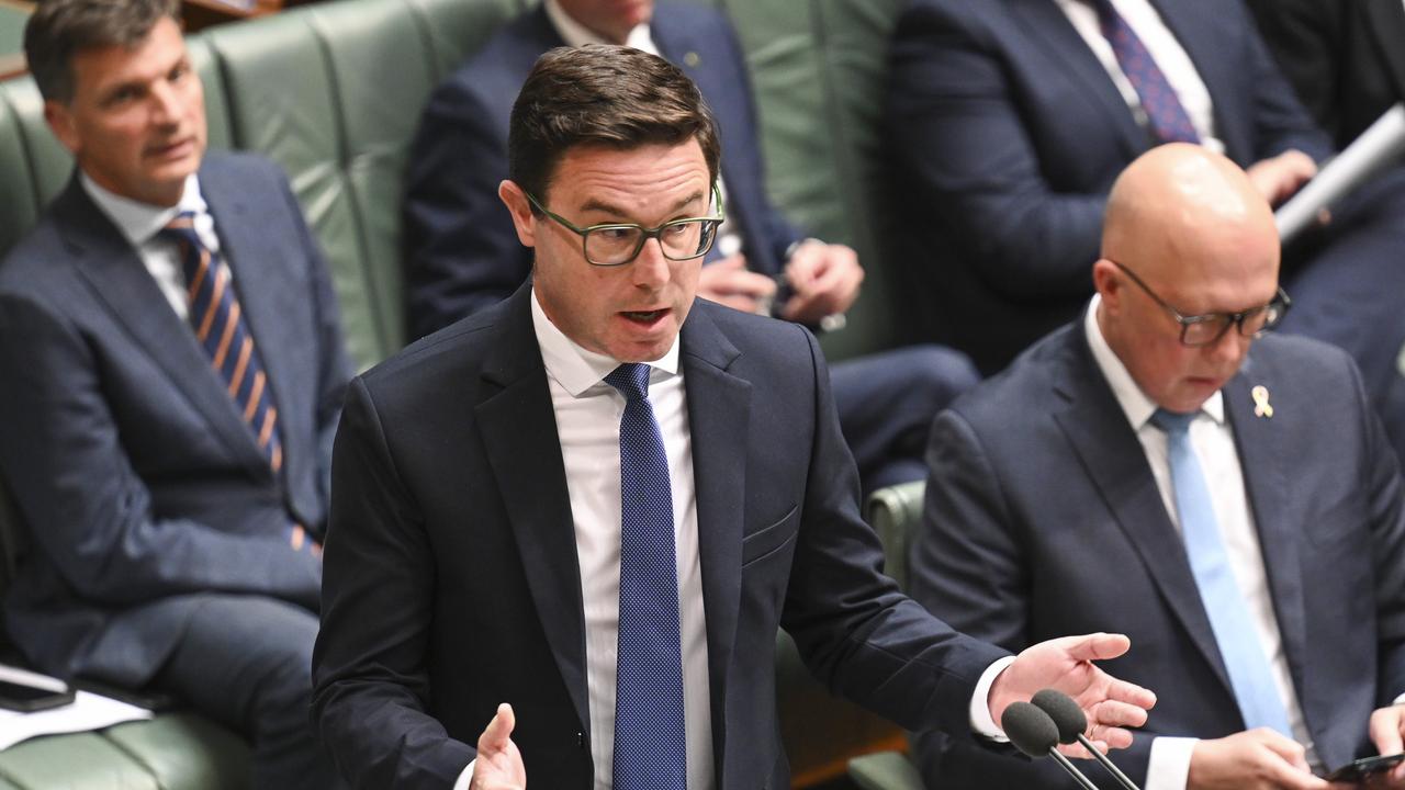
<path fill-rule="evenodd" d="M 1253 617 L 1235 583 L 1210 502 L 1210 488 L 1190 446 L 1190 422 L 1194 419 L 1194 412 L 1182 415 L 1165 409 L 1158 409 L 1151 417 L 1152 425 L 1166 432 L 1170 484 L 1176 489 L 1176 512 L 1180 514 L 1186 554 L 1190 555 L 1190 571 L 1200 588 L 1200 600 L 1210 616 L 1210 628 L 1220 644 L 1220 656 L 1229 672 L 1229 685 L 1245 727 L 1272 727 L 1291 738 L 1288 713 L 1273 683 L 1273 671 L 1259 642 Z"/>

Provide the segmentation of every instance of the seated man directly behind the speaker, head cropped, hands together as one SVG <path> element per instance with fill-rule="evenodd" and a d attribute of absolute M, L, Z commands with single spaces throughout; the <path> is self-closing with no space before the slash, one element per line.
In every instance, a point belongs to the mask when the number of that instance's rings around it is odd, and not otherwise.
<path fill-rule="evenodd" d="M 410 153 L 405 205 L 413 336 L 493 305 L 527 280 L 531 252 L 497 200 L 509 112 L 537 56 L 590 42 L 672 60 L 697 80 L 718 118 L 728 221 L 702 268 L 704 298 L 828 326 L 858 297 L 864 271 L 854 250 L 805 239 L 766 197 L 750 80 L 725 17 L 698 6 L 653 11 L 652 0 L 545 0 L 434 93 Z M 932 417 L 978 378 L 965 357 L 930 346 L 840 363 L 830 374 L 865 491 L 920 479 Z"/>

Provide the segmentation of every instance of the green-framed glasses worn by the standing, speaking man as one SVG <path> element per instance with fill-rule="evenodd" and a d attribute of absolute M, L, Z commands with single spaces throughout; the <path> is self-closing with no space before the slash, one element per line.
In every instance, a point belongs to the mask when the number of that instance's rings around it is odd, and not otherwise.
<path fill-rule="evenodd" d="M 670 219 L 658 228 L 645 228 L 636 222 L 604 222 L 580 228 L 542 205 L 531 193 L 523 194 L 538 211 L 580 236 L 580 252 L 590 266 L 624 266 L 639 257 L 643 243 L 649 239 L 659 240 L 663 257 L 669 260 L 702 257 L 712 249 L 717 228 L 722 224 L 722 193 L 717 184 L 712 186 L 717 216 L 684 216 Z"/>

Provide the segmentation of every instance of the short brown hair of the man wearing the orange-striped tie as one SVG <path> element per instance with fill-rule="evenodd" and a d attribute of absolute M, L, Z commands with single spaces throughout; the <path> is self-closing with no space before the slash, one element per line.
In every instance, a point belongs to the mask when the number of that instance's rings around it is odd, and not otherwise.
<path fill-rule="evenodd" d="M 44 98 L 73 100 L 73 56 L 98 46 L 135 48 L 156 22 L 180 22 L 178 0 L 39 0 L 24 27 L 24 56 Z"/>

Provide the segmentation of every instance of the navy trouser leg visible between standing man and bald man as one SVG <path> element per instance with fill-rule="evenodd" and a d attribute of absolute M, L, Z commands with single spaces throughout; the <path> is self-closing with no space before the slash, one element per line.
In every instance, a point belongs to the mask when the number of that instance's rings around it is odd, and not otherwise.
<path fill-rule="evenodd" d="M 932 420 L 981 375 L 961 351 L 912 346 L 835 363 L 829 381 L 867 498 L 885 485 L 926 479 Z"/>

